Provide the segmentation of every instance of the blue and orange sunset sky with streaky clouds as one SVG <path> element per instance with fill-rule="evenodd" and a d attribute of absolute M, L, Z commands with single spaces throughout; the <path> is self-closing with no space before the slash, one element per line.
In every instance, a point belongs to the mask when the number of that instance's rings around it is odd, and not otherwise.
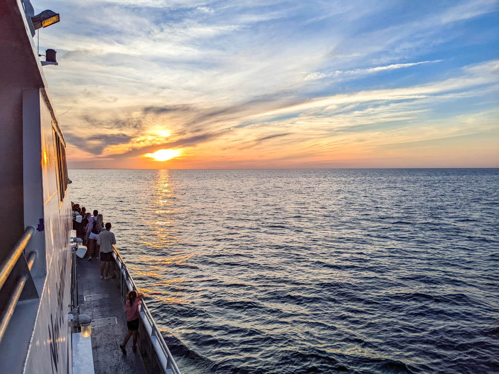
<path fill-rule="evenodd" d="M 31 2 L 69 168 L 499 167 L 498 1 Z"/>

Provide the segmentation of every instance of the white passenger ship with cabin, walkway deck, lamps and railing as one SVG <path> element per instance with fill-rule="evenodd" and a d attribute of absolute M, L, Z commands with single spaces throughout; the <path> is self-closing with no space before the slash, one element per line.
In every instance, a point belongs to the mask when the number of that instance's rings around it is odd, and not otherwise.
<path fill-rule="evenodd" d="M 113 247 L 114 278 L 79 258 L 66 142 L 33 37 L 60 21 L 29 0 L 0 1 L 0 373 L 180 374 L 147 307 L 124 355 L 124 300 L 137 286 Z"/>

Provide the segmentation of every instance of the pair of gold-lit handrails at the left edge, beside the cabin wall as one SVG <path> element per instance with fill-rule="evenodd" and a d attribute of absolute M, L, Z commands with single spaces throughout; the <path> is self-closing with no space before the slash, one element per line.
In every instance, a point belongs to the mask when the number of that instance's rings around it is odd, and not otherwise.
<path fill-rule="evenodd" d="M 33 233 L 35 231 L 35 228 L 33 226 L 28 226 L 26 230 L 24 231 L 24 234 L 22 234 L 21 238 L 15 243 L 14 247 L 8 254 L 8 256 L 5 258 L 3 263 L 1 264 L 0 268 L 0 291 L 3 285 L 5 284 L 8 276 L 12 272 L 12 269 L 14 268 L 15 264 L 17 263 L 17 260 L 21 256 L 22 252 L 26 248 L 26 245 L 29 242 L 29 239 L 31 239 L 31 236 L 33 236 Z M 27 267 L 28 270 L 31 270 L 31 267 L 33 266 L 34 260 L 36 259 L 36 251 L 32 251 L 27 259 Z M 19 301 L 19 298 L 21 297 L 22 289 L 24 288 L 24 285 L 26 284 L 26 281 L 29 279 L 28 274 L 22 274 L 19 279 L 17 280 L 17 283 L 14 287 L 14 290 L 12 292 L 12 295 L 10 295 L 10 298 L 6 304 L 5 310 L 3 311 L 3 314 L 1 316 L 0 320 L 0 342 L 3 338 L 3 335 L 5 334 L 5 331 L 7 330 L 8 323 L 10 322 L 10 319 L 12 318 L 12 315 L 14 314 L 14 309 L 17 305 L 17 302 Z"/>

